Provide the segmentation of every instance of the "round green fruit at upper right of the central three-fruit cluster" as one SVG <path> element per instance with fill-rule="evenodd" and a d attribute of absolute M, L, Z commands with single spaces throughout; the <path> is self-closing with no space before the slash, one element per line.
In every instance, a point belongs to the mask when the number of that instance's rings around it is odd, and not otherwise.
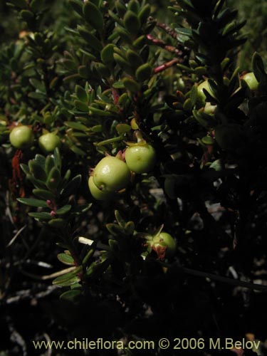
<path fill-rule="evenodd" d="M 156 163 L 156 152 L 151 145 L 130 146 L 125 151 L 125 161 L 132 172 L 150 172 Z"/>

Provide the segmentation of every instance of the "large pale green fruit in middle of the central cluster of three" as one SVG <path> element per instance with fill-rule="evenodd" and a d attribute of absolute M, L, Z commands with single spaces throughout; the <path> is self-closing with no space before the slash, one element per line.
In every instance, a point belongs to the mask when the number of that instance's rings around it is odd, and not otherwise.
<path fill-rule="evenodd" d="M 117 192 L 130 182 L 130 169 L 121 159 L 108 156 L 96 165 L 93 182 L 102 192 Z"/>

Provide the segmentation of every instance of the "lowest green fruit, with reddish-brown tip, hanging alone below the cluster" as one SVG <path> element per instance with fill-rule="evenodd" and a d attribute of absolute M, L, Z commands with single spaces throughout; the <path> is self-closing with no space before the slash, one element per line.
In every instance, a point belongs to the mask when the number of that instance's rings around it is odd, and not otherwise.
<path fill-rule="evenodd" d="M 170 258 L 175 254 L 176 241 L 170 234 L 167 234 L 167 232 L 162 231 L 159 235 L 156 235 L 150 244 L 160 259 Z"/>

